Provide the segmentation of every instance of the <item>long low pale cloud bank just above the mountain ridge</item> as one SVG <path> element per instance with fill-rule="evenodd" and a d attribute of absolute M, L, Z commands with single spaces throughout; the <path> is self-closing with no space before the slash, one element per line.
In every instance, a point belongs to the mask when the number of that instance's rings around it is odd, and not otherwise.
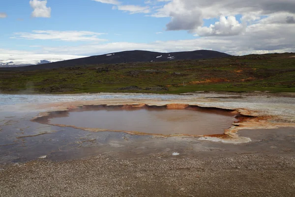
<path fill-rule="evenodd" d="M 290 27 L 292 26 L 292 27 Z M 204 36 L 188 40 L 155 41 L 151 43 L 109 42 L 80 46 L 43 47 L 49 53 L 98 55 L 125 50 L 158 52 L 215 50 L 232 55 L 250 53 L 292 52 L 295 50 L 295 24 L 253 24 L 235 36 Z"/>

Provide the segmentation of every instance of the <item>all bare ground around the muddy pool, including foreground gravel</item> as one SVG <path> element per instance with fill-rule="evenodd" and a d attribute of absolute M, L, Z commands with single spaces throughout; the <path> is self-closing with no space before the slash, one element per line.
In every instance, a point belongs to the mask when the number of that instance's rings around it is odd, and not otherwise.
<path fill-rule="evenodd" d="M 92 102 L 94 98 L 95 103 L 190 103 L 243 109 L 257 115 L 272 112 L 277 118 L 270 123 L 285 127 L 259 129 L 256 124 L 257 129 L 237 131 L 240 137 L 251 141 L 225 143 L 189 136 L 91 132 L 30 121 L 40 112 L 64 110 L 84 104 L 84 100 Z M 295 193 L 292 178 L 295 128 L 282 124 L 292 125 L 295 119 L 294 98 L 213 93 L 0 95 L 0 103 L 0 194 L 4 196 L 293 196 Z"/>

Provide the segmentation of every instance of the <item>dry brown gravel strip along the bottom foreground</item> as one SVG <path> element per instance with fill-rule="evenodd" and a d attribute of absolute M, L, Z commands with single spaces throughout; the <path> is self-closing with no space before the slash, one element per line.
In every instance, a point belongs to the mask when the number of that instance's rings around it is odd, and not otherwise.
<path fill-rule="evenodd" d="M 294 197 L 294 155 L 106 156 L 0 166 L 1 197 Z"/>

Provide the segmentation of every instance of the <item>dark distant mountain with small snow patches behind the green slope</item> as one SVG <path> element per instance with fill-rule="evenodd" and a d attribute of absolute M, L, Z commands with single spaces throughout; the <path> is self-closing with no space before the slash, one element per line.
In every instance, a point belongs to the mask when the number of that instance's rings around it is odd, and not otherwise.
<path fill-rule="evenodd" d="M 51 69 L 58 67 L 82 66 L 82 65 L 98 65 L 98 64 L 120 64 L 134 62 L 167 62 L 175 60 L 198 60 L 210 58 L 228 57 L 229 54 L 218 51 L 197 50 L 173 53 L 159 53 L 151 51 L 122 51 L 118 53 L 110 53 L 98 56 L 90 56 L 87 58 L 79 58 L 65 60 L 43 65 L 32 65 L 18 68 L 0 68 L 0 70 L 34 70 L 34 69 Z"/>

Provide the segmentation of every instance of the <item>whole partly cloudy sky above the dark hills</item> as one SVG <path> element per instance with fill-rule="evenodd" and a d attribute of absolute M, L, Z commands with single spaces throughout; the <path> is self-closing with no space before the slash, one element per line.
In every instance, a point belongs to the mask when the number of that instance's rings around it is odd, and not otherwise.
<path fill-rule="evenodd" d="M 295 0 L 0 0 L 0 62 L 126 50 L 295 52 Z"/>

